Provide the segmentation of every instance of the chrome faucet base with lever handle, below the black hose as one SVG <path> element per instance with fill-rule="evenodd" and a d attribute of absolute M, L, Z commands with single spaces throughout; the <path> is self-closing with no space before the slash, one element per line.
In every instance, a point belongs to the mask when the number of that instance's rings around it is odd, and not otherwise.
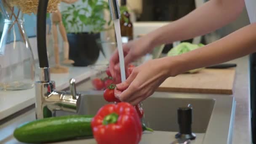
<path fill-rule="evenodd" d="M 81 94 L 76 93 L 75 79 L 69 80 L 70 93 L 56 91 L 55 82 L 50 81 L 49 68 L 40 68 L 40 70 L 40 81 L 35 83 L 36 118 L 53 117 L 57 110 L 76 113 Z"/>

